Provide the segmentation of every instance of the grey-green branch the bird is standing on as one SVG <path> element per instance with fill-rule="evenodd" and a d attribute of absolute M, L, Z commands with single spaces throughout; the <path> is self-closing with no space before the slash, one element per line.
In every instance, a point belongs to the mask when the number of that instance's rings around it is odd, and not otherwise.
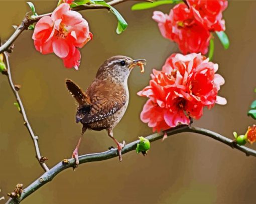
<path fill-rule="evenodd" d="M 234 143 L 233 140 L 228 139 L 218 133 L 215 133 L 215 132 L 207 130 L 207 129 L 203 129 L 203 128 L 199 128 L 199 127 L 190 127 L 187 125 L 180 125 L 180 126 L 177 126 L 175 128 L 172 128 L 172 129 L 169 129 L 166 131 L 168 136 L 178 134 L 181 132 L 194 132 L 194 133 L 206 135 L 206 136 L 209 136 L 209 137 L 211 137 L 215 140 L 218 140 L 224 144 L 227 144 L 228 146 L 230 146 L 232 148 L 236 148 L 236 149 L 244 152 L 246 155 L 256 156 L 255 150 L 244 147 L 244 146 L 239 146 L 236 143 Z M 146 138 L 150 142 L 153 142 L 153 141 L 163 138 L 163 136 L 164 136 L 164 132 L 160 132 L 160 133 L 155 133 L 155 134 L 149 135 Z M 140 140 L 136 140 L 134 142 L 126 144 L 124 146 L 124 148 L 122 149 L 122 154 L 125 154 L 132 150 L 135 150 L 138 142 L 140 142 Z M 110 158 L 113 158 L 116 156 L 118 156 L 117 149 L 111 149 L 111 150 L 101 152 L 101 153 L 81 155 L 78 157 L 78 159 L 79 159 L 79 164 L 82 164 L 82 163 L 87 163 L 87 162 L 92 162 L 92 161 L 102 161 L 102 160 L 110 159 Z M 16 199 L 10 198 L 7 201 L 7 203 L 21 202 L 24 198 L 26 198 L 31 193 L 33 193 L 34 191 L 39 189 L 41 186 L 43 186 L 44 184 L 51 181 L 58 173 L 65 170 L 66 168 L 73 167 L 74 164 L 75 164 L 75 159 L 73 159 L 73 158 L 72 159 L 64 159 L 63 161 L 59 162 L 54 167 L 52 167 L 49 171 L 47 171 L 43 175 L 41 175 L 38 179 L 36 179 L 33 183 L 31 183 L 27 188 L 25 188 L 19 198 L 16 198 Z"/>

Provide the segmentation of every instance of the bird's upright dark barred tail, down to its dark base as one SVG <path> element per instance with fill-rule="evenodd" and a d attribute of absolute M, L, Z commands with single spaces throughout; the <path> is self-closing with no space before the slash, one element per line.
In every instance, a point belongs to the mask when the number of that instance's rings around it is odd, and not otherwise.
<path fill-rule="evenodd" d="M 79 103 L 79 106 L 76 112 L 76 122 L 80 122 L 80 120 L 85 116 L 85 114 L 90 112 L 91 101 L 87 96 L 87 94 L 84 93 L 82 89 L 70 79 L 66 79 L 66 86 L 69 93 L 71 93 L 71 95 Z"/>

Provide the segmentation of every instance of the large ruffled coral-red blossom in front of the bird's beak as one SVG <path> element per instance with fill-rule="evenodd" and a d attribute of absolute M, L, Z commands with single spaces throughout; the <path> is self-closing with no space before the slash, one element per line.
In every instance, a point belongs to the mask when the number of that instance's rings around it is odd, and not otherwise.
<path fill-rule="evenodd" d="M 203 108 L 215 103 L 226 104 L 217 96 L 224 79 L 215 74 L 218 65 L 201 54 L 173 54 L 162 71 L 153 70 L 150 85 L 138 93 L 148 97 L 141 120 L 153 131 L 189 124 L 191 118 L 199 119 Z"/>

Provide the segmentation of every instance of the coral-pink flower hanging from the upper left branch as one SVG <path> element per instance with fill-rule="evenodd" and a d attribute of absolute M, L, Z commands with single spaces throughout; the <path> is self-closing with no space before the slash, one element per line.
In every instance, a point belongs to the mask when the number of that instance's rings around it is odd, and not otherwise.
<path fill-rule="evenodd" d="M 58 6 L 52 16 L 41 18 L 33 34 L 34 45 L 42 54 L 55 53 L 63 59 L 67 68 L 78 69 L 80 52 L 92 34 L 86 20 L 75 11 L 70 11 L 68 4 Z"/>

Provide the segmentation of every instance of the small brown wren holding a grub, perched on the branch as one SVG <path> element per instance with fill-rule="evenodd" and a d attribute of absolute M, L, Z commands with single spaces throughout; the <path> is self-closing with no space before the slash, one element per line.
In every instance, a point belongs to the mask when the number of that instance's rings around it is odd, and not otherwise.
<path fill-rule="evenodd" d="M 68 91 L 78 102 L 76 122 L 83 124 L 81 137 L 73 151 L 72 157 L 78 166 L 78 148 L 84 132 L 91 130 L 107 130 L 108 136 L 117 145 L 119 160 L 125 142 L 119 143 L 113 137 L 113 128 L 121 120 L 129 102 L 127 79 L 136 66 L 144 72 L 146 60 L 133 60 L 130 57 L 114 56 L 107 59 L 98 69 L 95 79 L 83 92 L 73 81 L 66 79 Z"/>

